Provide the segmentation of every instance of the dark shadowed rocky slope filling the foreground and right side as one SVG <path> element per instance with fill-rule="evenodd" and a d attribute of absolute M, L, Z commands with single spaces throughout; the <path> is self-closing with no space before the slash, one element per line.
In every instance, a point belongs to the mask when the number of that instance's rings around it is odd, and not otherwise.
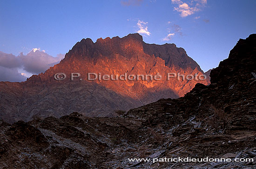
<path fill-rule="evenodd" d="M 162 99 L 116 118 L 80 113 L 0 122 L 0 168 L 256 168 L 256 34 L 179 99 Z M 128 158 L 253 158 L 254 162 L 129 162 Z"/>

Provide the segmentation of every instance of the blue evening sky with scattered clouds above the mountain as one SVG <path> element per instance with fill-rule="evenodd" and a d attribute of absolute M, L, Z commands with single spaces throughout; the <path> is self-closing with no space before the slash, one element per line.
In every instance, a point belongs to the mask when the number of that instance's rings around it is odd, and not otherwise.
<path fill-rule="evenodd" d="M 43 72 L 82 38 L 136 32 L 184 48 L 207 71 L 256 33 L 255 9 L 256 0 L 0 0 L 0 81 L 8 71 L 17 75 L 8 81 Z"/>

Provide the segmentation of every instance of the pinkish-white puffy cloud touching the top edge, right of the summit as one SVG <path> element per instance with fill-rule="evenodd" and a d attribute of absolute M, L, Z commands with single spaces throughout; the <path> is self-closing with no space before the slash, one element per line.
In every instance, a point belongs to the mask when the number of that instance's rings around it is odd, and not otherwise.
<path fill-rule="evenodd" d="M 207 4 L 207 0 L 190 0 L 188 3 L 181 0 L 172 0 L 172 4 L 178 5 L 178 7 L 174 7 L 174 11 L 180 12 L 182 18 L 200 11 Z"/>

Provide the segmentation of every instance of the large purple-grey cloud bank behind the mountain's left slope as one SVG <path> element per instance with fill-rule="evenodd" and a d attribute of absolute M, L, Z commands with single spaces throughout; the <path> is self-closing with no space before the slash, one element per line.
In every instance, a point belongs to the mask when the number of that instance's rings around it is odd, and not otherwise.
<path fill-rule="evenodd" d="M 0 81 L 25 81 L 27 76 L 46 71 L 61 61 L 64 55 L 53 57 L 40 51 L 40 48 L 32 49 L 27 55 L 19 56 L 0 51 Z"/>

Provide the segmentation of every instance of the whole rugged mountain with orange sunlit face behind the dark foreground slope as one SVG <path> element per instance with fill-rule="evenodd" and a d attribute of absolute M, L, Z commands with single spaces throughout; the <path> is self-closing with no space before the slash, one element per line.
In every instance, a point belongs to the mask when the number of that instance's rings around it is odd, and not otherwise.
<path fill-rule="evenodd" d="M 57 73 L 65 73 L 66 78 L 54 79 Z M 80 73 L 80 77 L 71 80 L 72 73 Z M 88 73 L 98 78 L 88 80 Z M 100 75 L 148 78 L 102 80 Z M 160 78 L 152 79 L 155 75 Z M 112 117 L 117 115 L 115 110 L 127 111 L 162 98 L 181 97 L 196 83 L 208 85 L 209 76 L 200 80 L 202 75 L 199 65 L 175 44 L 146 44 L 137 33 L 99 38 L 95 43 L 82 39 L 45 73 L 21 83 L 1 82 L 1 117 L 9 122 L 29 120 L 38 113 L 43 117 L 72 112 Z"/>

